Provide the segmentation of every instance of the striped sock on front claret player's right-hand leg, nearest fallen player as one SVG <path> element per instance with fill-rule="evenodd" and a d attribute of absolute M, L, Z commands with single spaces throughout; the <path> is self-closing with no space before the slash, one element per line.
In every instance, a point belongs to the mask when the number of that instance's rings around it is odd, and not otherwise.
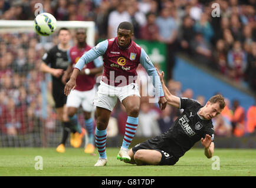
<path fill-rule="evenodd" d="M 137 125 L 139 123 L 139 117 L 127 117 L 127 122 L 125 126 L 125 134 L 123 138 L 123 144 L 121 149 L 129 149 L 129 146 L 133 140 L 136 133 Z"/>

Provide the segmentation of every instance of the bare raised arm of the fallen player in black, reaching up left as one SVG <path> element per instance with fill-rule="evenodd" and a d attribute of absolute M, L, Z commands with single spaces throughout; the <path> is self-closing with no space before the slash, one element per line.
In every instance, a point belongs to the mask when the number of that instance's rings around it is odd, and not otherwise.
<path fill-rule="evenodd" d="M 178 98 L 178 96 L 172 95 L 169 92 L 169 89 L 165 86 L 165 81 L 163 80 L 163 76 L 165 75 L 165 73 L 163 73 L 163 71 L 160 73 L 157 68 L 156 68 L 156 71 L 162 83 L 162 88 L 163 88 L 163 92 L 165 93 L 165 98 L 167 100 L 167 103 L 176 108 L 180 108 L 180 99 Z"/>

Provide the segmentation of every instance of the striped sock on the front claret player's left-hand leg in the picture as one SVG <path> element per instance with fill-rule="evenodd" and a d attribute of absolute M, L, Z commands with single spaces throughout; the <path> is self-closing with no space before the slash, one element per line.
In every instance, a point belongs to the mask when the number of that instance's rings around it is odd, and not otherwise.
<path fill-rule="evenodd" d="M 98 148 L 98 152 L 100 158 L 107 159 L 106 155 L 106 140 L 107 140 L 107 129 L 105 130 L 98 130 L 96 127 L 95 130 L 95 142 Z"/>

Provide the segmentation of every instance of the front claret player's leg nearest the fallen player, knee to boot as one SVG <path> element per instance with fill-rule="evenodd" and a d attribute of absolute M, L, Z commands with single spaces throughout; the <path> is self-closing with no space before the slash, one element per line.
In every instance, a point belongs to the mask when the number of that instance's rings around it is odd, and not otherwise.
<path fill-rule="evenodd" d="M 139 122 L 140 97 L 137 95 L 127 96 L 127 98 L 122 100 L 122 104 L 124 105 L 124 108 L 126 108 L 128 117 L 122 147 L 117 155 L 117 159 L 129 162 L 131 159 L 128 155 L 128 149 L 136 133 Z"/>

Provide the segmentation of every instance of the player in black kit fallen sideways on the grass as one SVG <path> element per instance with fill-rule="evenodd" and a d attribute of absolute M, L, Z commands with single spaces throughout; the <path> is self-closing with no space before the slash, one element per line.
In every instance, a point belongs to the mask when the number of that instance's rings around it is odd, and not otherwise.
<path fill-rule="evenodd" d="M 212 96 L 205 106 L 196 100 L 178 98 L 172 95 L 163 81 L 164 73 L 159 73 L 167 103 L 183 113 L 175 120 L 170 129 L 160 136 L 139 143 L 129 150 L 130 163 L 137 165 L 173 165 L 178 162 L 191 147 L 201 140 L 205 156 L 214 154 L 214 126 L 212 118 L 219 115 L 225 107 L 221 95 Z"/>

